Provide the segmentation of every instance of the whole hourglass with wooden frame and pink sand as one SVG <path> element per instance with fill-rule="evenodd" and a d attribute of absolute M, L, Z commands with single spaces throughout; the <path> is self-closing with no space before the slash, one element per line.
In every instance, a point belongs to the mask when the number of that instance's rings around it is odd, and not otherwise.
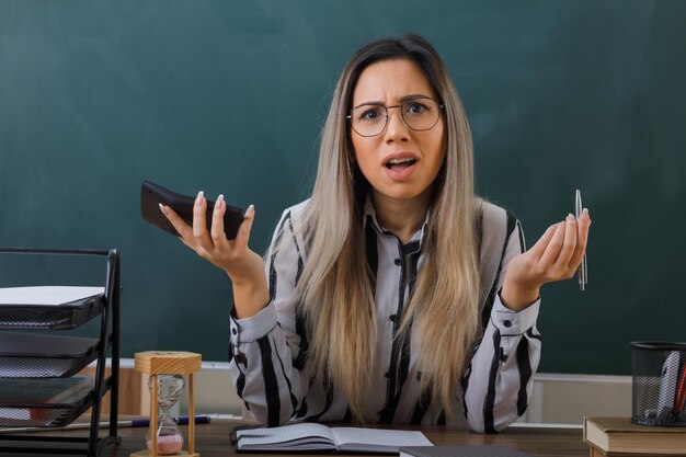
<path fill-rule="evenodd" d="M 133 453 L 132 457 L 190 456 L 195 453 L 195 421 L 188 420 L 188 452 L 181 450 L 183 435 L 171 416 L 170 409 L 179 401 L 184 388 L 183 376 L 188 376 L 188 418 L 195 418 L 193 374 L 201 369 L 201 355 L 191 352 L 139 352 L 135 354 L 134 368 L 150 375 L 150 429 L 148 449 Z M 159 416 L 158 416 L 159 411 Z"/>

